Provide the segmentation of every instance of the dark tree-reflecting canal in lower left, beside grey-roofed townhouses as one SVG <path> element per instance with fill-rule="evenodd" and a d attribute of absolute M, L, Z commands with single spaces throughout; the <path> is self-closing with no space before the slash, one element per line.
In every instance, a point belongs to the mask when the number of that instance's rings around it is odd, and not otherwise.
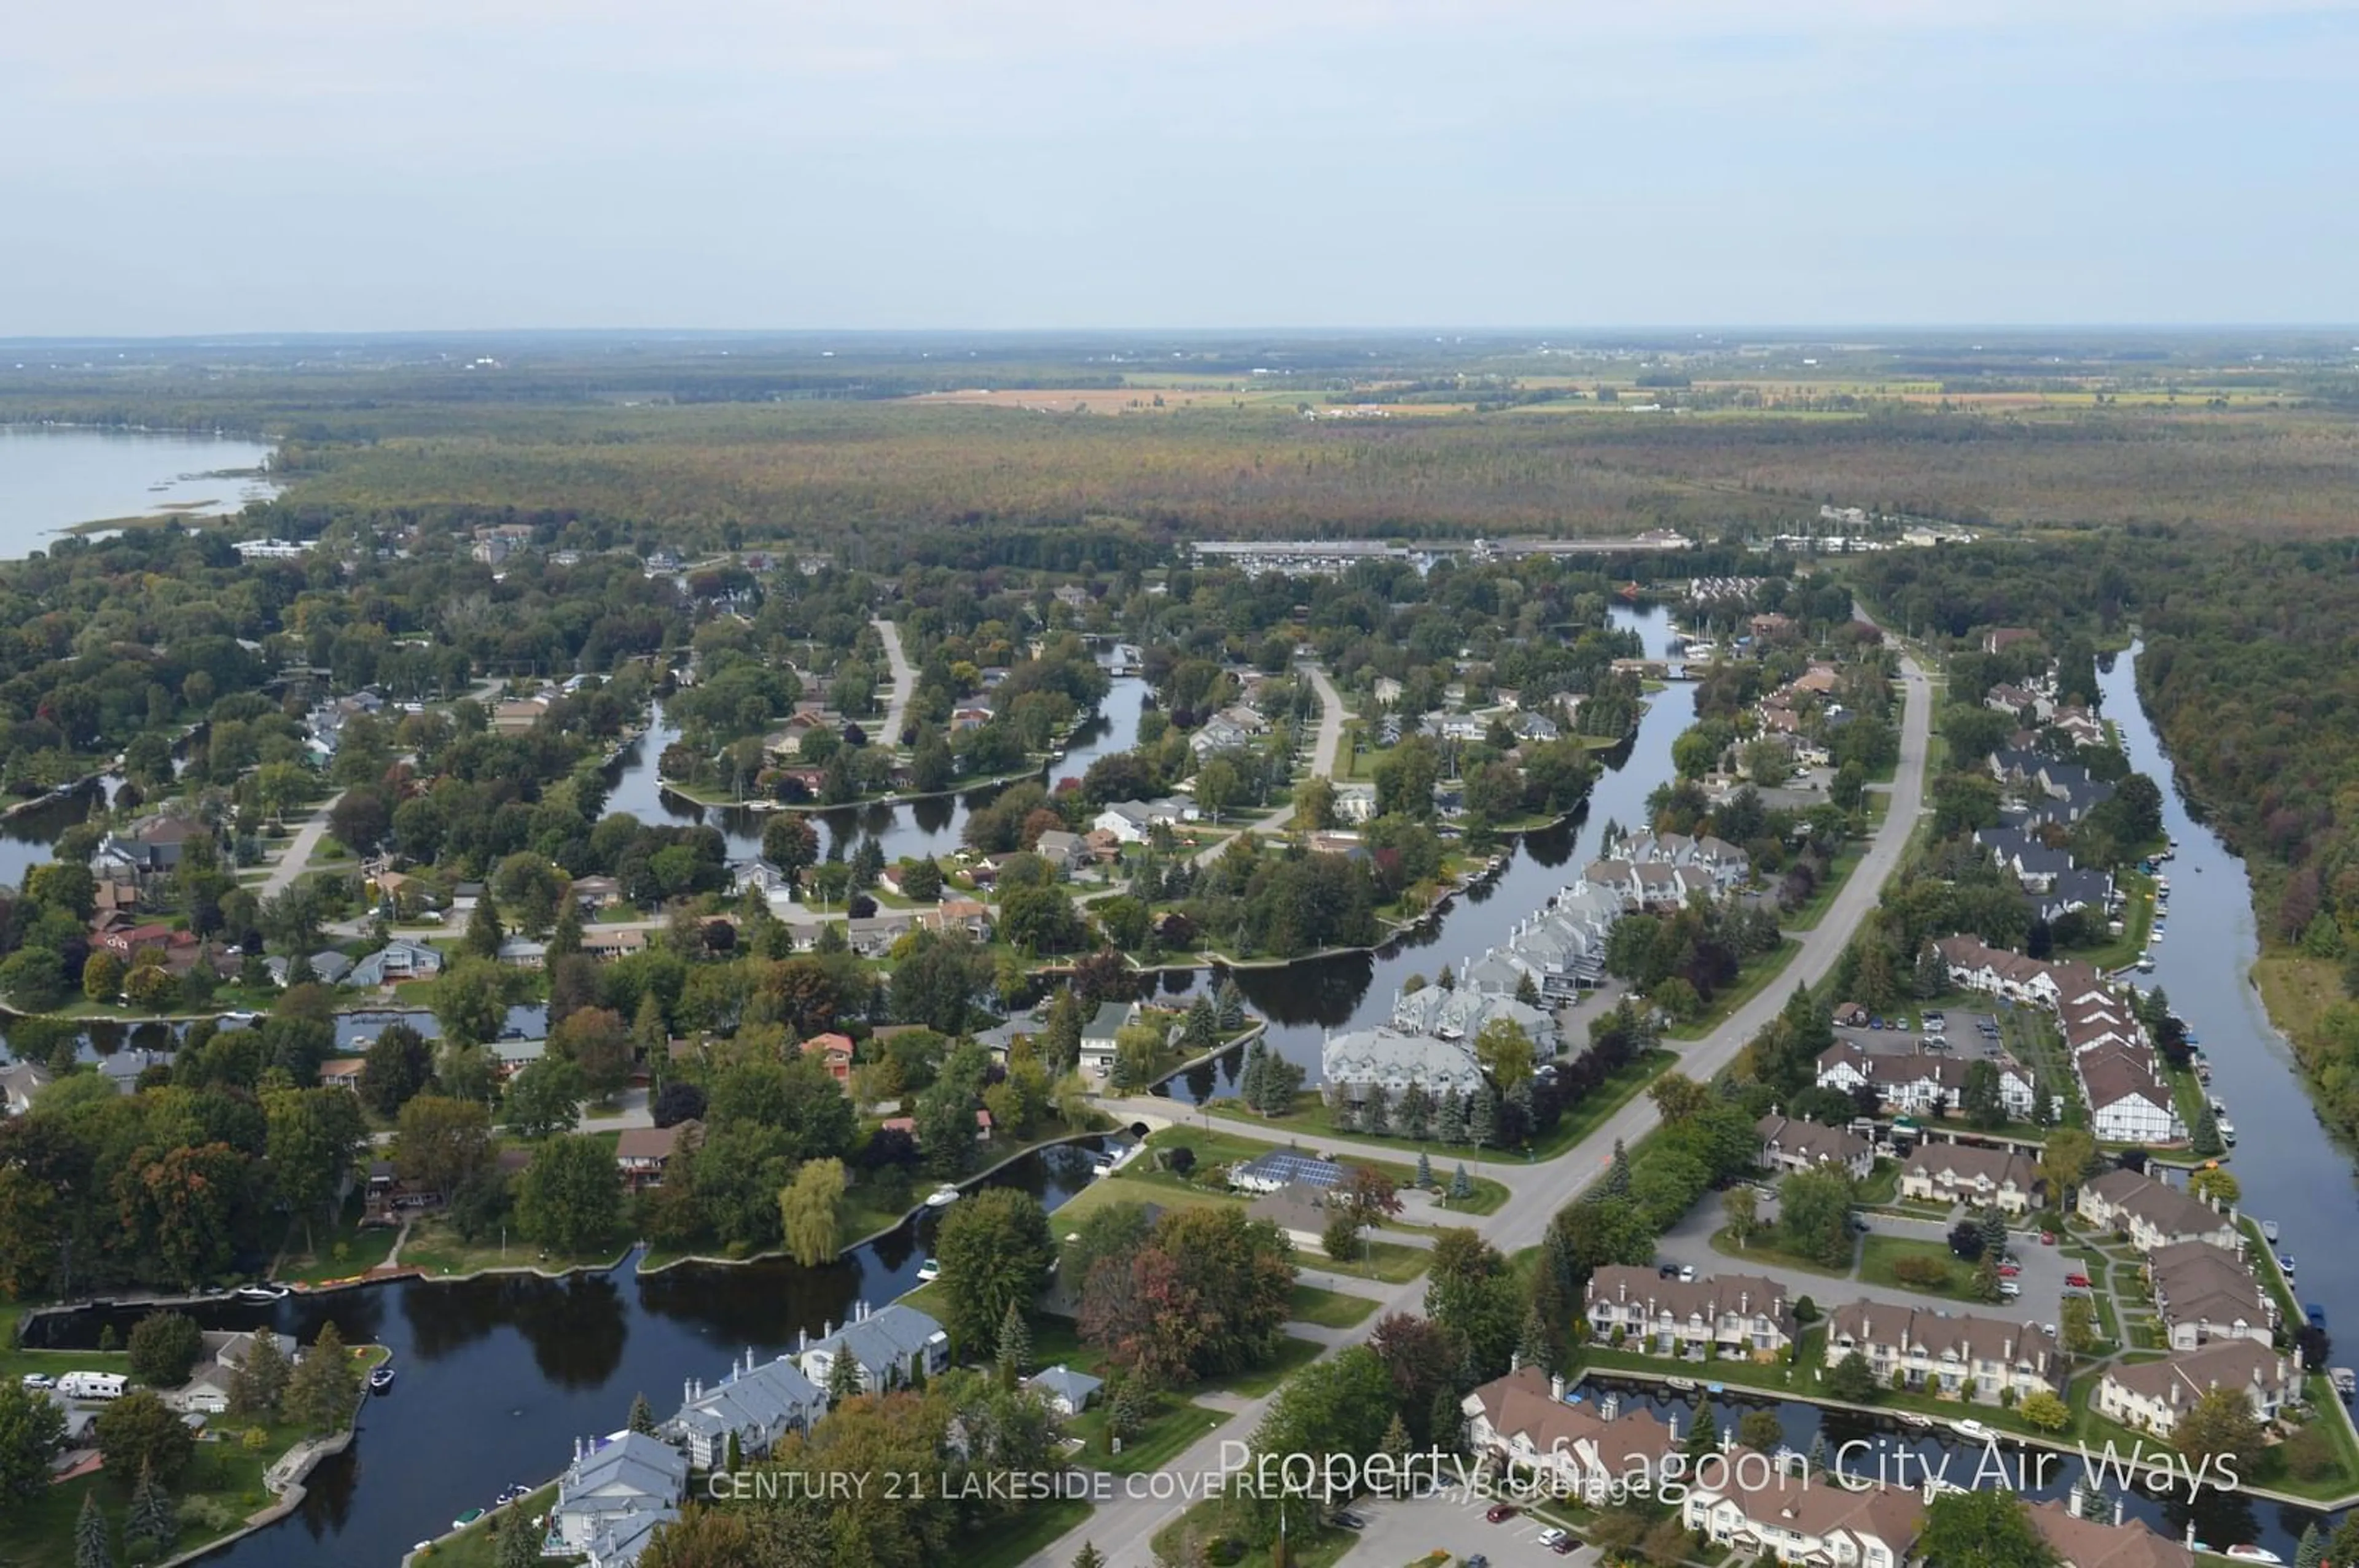
<path fill-rule="evenodd" d="M 1090 1181 L 1104 1141 L 1047 1148 L 995 1186 L 1062 1205 Z M 684 1264 L 637 1276 L 406 1280 L 276 1306 L 189 1309 L 203 1327 L 271 1325 L 309 1342 L 335 1320 L 344 1339 L 394 1351 L 394 1391 L 361 1408 L 351 1448 L 311 1471 L 302 1507 L 205 1559 L 222 1568 L 392 1566 L 507 1483 L 564 1469 L 573 1438 L 616 1431 L 635 1394 L 658 1419 L 689 1377 L 719 1379 L 750 1346 L 771 1358 L 821 1335 L 859 1302 L 882 1306 L 918 1283 L 934 1217 L 925 1214 L 826 1269 L 783 1259 L 741 1269 Z M 517 1259 L 531 1250 L 517 1245 Z M 38 1342 L 94 1344 L 137 1311 L 40 1320 Z"/>

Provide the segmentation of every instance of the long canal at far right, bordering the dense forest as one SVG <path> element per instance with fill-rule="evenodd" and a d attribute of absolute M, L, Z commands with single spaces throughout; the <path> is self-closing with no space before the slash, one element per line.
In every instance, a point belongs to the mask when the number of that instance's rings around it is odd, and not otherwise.
<path fill-rule="evenodd" d="M 2319 1122 L 2293 1047 L 2269 1026 L 2250 983 L 2260 955 L 2253 884 L 2180 790 L 2137 700 L 2135 660 L 2133 646 L 2100 667 L 2104 717 L 2121 726 L 2130 766 L 2163 788 L 2163 825 L 2180 844 L 2161 868 L 2170 877 L 2170 917 L 2151 948 L 2154 974 L 2137 983 L 2170 995 L 2170 1009 L 2210 1059 L 2210 1092 L 2236 1122 L 2229 1170 L 2243 1210 L 2281 1226 L 2279 1252 L 2298 1264 L 2302 1304 L 2326 1309 L 2328 1332 L 2359 1335 L 2359 1250 L 2342 1250 L 2359 1221 L 2352 1151 Z"/>

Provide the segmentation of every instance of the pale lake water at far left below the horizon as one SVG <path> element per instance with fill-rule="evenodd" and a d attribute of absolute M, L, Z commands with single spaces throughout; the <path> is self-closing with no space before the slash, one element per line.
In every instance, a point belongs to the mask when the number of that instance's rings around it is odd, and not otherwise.
<path fill-rule="evenodd" d="M 0 424 L 0 559 L 113 516 L 215 516 L 276 493 L 250 474 L 271 448 L 236 436 Z"/>

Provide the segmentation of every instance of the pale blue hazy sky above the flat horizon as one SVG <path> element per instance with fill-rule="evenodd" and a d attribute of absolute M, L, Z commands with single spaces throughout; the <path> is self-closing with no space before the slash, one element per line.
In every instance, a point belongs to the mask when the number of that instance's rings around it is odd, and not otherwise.
<path fill-rule="evenodd" d="M 2359 0 L 12 9 L 0 337 L 2359 318 Z"/>

